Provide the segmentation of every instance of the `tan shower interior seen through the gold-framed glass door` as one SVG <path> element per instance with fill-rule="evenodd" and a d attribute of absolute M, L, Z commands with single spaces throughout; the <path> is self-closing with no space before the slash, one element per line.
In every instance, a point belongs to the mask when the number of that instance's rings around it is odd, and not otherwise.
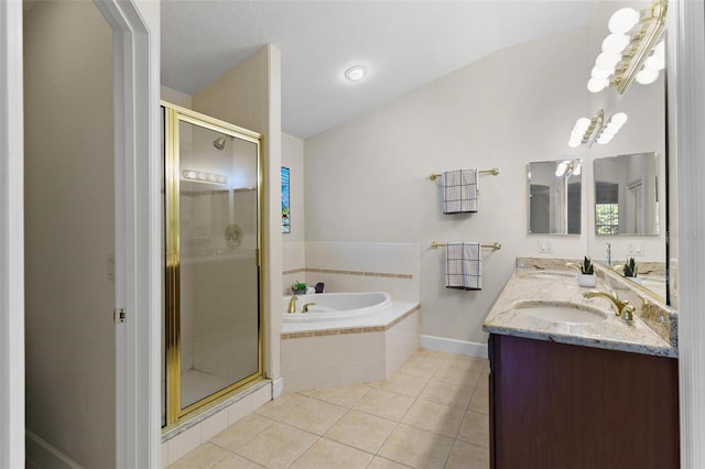
<path fill-rule="evenodd" d="M 182 124 L 183 167 L 220 174 L 230 171 L 223 167 L 225 156 L 236 155 L 242 174 L 256 174 L 251 144 L 228 141 L 224 150 L 216 150 L 213 133 L 192 130 L 192 126 Z M 257 248 L 257 190 L 230 193 L 182 181 L 181 217 L 182 373 L 194 369 L 229 384 L 248 375 L 258 360 L 252 356 L 258 340 L 252 334 L 257 330 L 258 318 L 252 312 L 259 307 L 253 294 L 258 279 L 251 254 L 247 254 Z M 242 229 L 236 250 L 228 248 L 223 234 L 231 223 Z"/>

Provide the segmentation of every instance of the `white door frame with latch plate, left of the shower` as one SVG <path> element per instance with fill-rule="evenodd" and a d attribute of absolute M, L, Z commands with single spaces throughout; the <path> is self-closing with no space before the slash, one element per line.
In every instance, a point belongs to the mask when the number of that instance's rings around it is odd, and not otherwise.
<path fill-rule="evenodd" d="M 161 467 L 160 6 L 95 0 L 112 29 L 116 466 Z"/>

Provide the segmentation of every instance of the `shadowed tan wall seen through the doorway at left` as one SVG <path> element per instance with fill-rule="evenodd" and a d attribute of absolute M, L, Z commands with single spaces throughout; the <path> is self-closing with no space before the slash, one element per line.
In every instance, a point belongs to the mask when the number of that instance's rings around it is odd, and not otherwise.
<path fill-rule="evenodd" d="M 24 26 L 28 458 L 111 467 L 112 32 L 93 2 L 37 2 Z"/>

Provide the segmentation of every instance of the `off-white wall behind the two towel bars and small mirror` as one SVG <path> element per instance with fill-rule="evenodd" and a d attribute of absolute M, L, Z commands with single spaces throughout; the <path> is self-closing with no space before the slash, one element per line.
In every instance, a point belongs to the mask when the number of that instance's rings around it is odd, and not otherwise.
<path fill-rule="evenodd" d="M 633 133 L 612 148 L 567 146 L 575 120 L 598 110 L 585 88 L 587 45 L 582 30 L 499 51 L 307 140 L 306 241 L 417 242 L 422 334 L 484 342 L 481 323 L 517 257 L 600 258 L 604 251 L 588 234 L 589 196 L 583 197 L 579 237 L 527 234 L 527 164 L 583 157 L 587 188 L 595 154 L 646 151 L 636 140 L 658 150 L 642 139 L 638 118 L 622 129 Z M 441 212 L 431 173 L 495 166 L 499 176 L 480 176 L 478 214 Z M 551 239 L 553 252 L 539 253 L 541 239 Z M 445 252 L 430 249 L 434 240 L 502 243 L 500 251 L 484 250 L 481 292 L 444 287 Z"/>

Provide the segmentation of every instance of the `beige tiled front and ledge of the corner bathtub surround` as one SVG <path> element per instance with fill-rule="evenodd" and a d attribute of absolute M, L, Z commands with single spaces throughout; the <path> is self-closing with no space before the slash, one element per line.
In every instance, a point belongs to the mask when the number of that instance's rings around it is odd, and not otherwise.
<path fill-rule="evenodd" d="M 284 324 L 284 392 L 389 378 L 419 349 L 419 304 L 392 302 L 383 314 L 358 318 L 355 324 Z"/>

